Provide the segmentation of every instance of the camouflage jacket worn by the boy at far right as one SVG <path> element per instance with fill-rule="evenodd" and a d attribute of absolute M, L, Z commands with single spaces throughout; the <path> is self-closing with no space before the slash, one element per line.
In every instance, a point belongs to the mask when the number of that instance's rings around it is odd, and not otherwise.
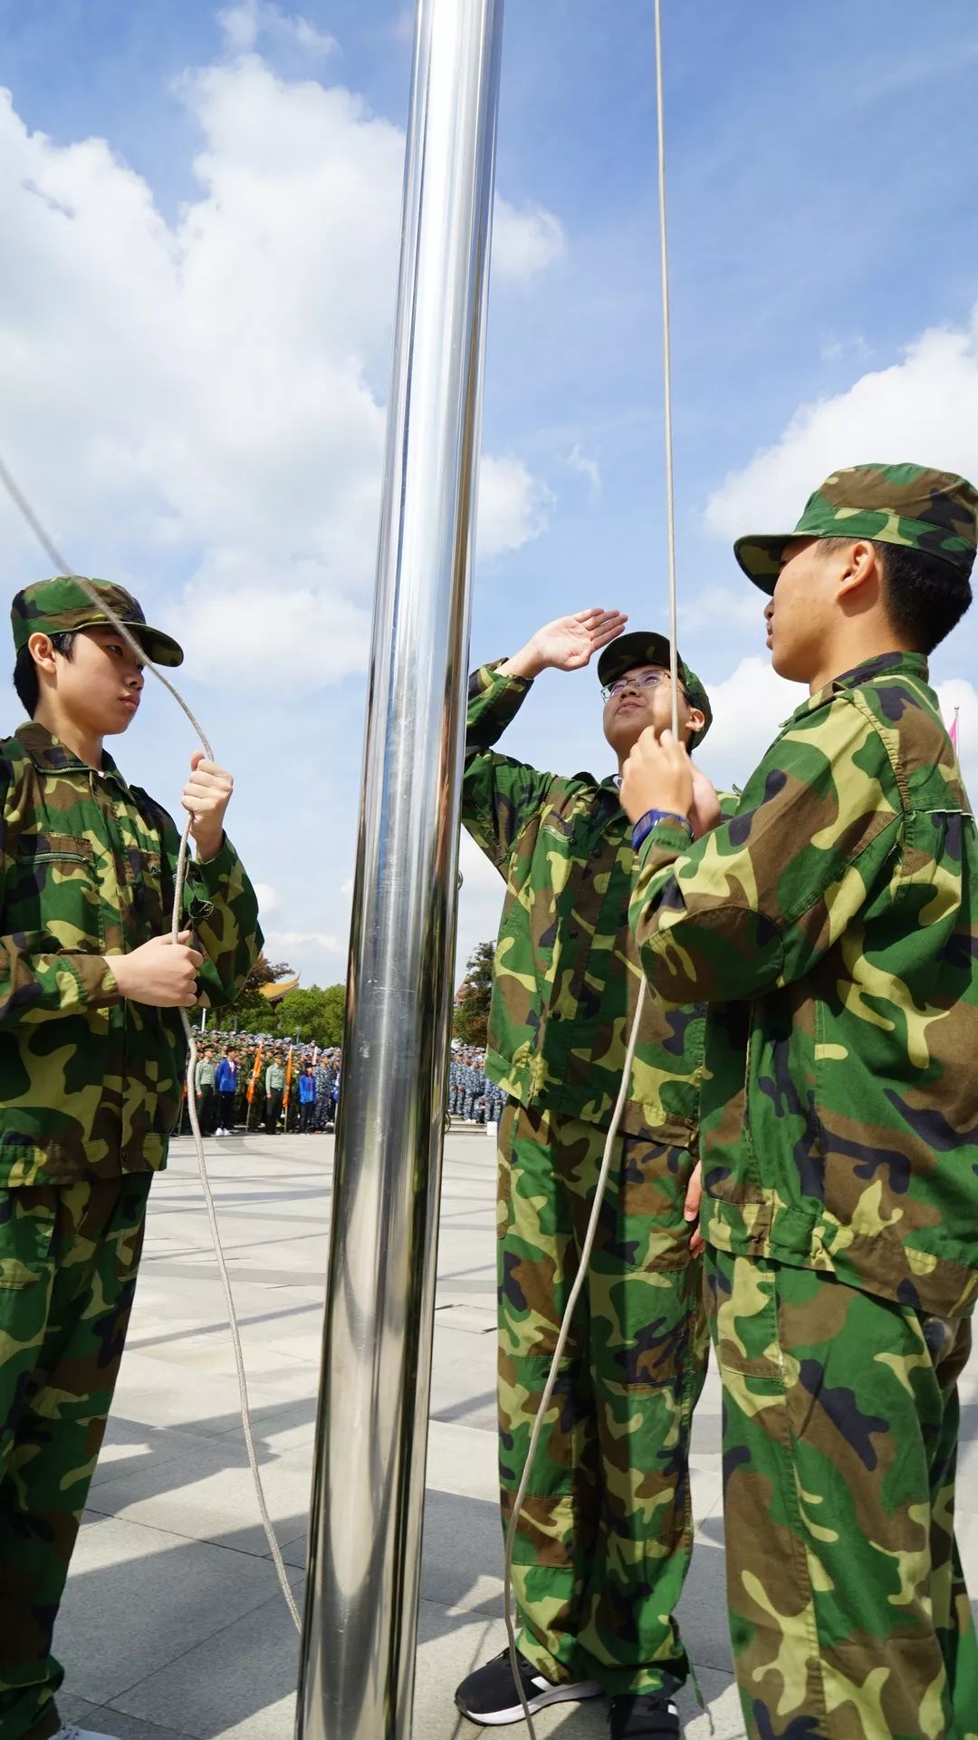
<path fill-rule="evenodd" d="M 792 715 L 738 813 L 642 842 L 660 997 L 710 1004 L 707 1239 L 957 1315 L 978 1291 L 978 844 L 919 654 Z"/>

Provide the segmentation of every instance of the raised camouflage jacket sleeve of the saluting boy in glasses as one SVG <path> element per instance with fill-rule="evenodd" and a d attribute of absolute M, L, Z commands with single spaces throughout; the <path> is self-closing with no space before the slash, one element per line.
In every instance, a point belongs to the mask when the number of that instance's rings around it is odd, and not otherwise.
<path fill-rule="evenodd" d="M 529 677 L 501 677 L 498 665 L 482 665 L 468 680 L 461 820 L 503 875 L 519 833 L 557 778 L 492 750 L 529 687 Z"/>

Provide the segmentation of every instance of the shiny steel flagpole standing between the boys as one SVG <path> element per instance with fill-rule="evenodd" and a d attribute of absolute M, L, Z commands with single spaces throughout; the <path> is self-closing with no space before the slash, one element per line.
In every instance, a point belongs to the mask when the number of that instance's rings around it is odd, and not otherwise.
<path fill-rule="evenodd" d="M 299 1740 L 407 1740 L 503 0 L 419 0 Z"/>

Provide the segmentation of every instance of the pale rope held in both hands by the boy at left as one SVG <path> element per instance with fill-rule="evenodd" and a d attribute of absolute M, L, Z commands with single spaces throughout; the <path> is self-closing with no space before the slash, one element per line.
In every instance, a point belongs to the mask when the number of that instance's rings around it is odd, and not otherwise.
<path fill-rule="evenodd" d="M 122 639 L 125 640 L 129 651 L 136 654 L 136 658 L 139 659 L 139 663 L 144 665 L 146 670 L 150 670 L 153 673 L 153 677 L 157 677 L 158 682 L 162 682 L 164 689 L 169 689 L 169 693 L 172 694 L 174 701 L 178 703 L 178 706 L 183 708 L 183 712 L 190 719 L 190 724 L 193 726 L 197 736 L 200 738 L 200 743 L 204 745 L 204 753 L 207 755 L 207 760 L 214 760 L 214 752 L 211 748 L 211 743 L 207 741 L 207 736 L 204 734 L 204 727 L 197 720 L 195 713 L 191 712 L 191 708 L 184 701 L 184 698 L 179 693 L 179 689 L 176 687 L 176 684 L 172 684 L 169 680 L 169 677 L 164 677 L 162 670 L 157 665 L 153 665 L 153 659 L 148 658 L 146 649 L 136 640 L 136 637 L 131 632 L 131 628 L 106 604 L 106 600 L 103 599 L 103 595 L 99 592 L 96 592 L 96 588 L 90 585 L 90 581 L 85 579 L 84 574 L 78 574 L 78 571 L 73 569 L 71 564 L 64 560 L 64 557 L 57 550 L 57 545 L 52 541 L 52 538 L 45 531 L 44 524 L 38 520 L 38 517 L 37 517 L 35 510 L 31 508 L 28 498 L 24 496 L 23 489 L 10 477 L 10 472 L 3 465 L 3 459 L 0 459 L 0 484 L 3 484 L 3 489 L 10 496 L 10 501 L 14 503 L 14 506 L 19 510 L 19 513 L 28 522 L 28 525 L 33 531 L 35 538 L 38 539 L 38 543 L 42 545 L 42 548 L 45 550 L 45 553 L 54 562 L 54 567 L 57 569 L 57 572 L 68 576 L 68 579 L 73 579 L 73 581 L 77 581 L 78 586 L 82 586 L 82 590 L 89 595 L 89 599 L 99 609 L 99 612 L 103 612 L 108 618 L 108 621 L 111 623 L 111 626 L 117 630 L 117 633 L 122 635 Z M 190 828 L 191 828 L 191 823 L 193 823 L 193 816 L 188 816 L 186 821 L 184 821 L 184 826 L 183 826 L 183 833 L 181 833 L 181 840 L 179 840 L 178 863 L 176 863 L 176 887 L 174 887 L 172 914 L 171 914 L 171 938 L 172 938 L 174 943 L 176 943 L 176 940 L 178 940 L 178 936 L 181 933 L 183 891 L 184 891 L 184 884 L 186 884 L 186 860 L 188 860 L 188 849 L 190 849 Z M 214 1208 L 214 1192 L 211 1190 L 211 1180 L 207 1176 L 207 1162 L 205 1162 L 205 1157 L 204 1157 L 204 1136 L 202 1136 L 202 1131 L 200 1131 L 200 1119 L 198 1119 L 198 1108 L 197 1108 L 197 1028 L 191 1027 L 190 1016 L 188 1016 L 186 1009 L 179 1011 L 179 1018 L 183 1021 L 183 1030 L 184 1030 L 184 1035 L 186 1035 L 186 1107 L 188 1107 L 188 1112 L 190 1112 L 190 1128 L 193 1131 L 193 1141 L 197 1145 L 197 1171 L 200 1173 L 200 1188 L 204 1192 L 204 1202 L 205 1202 L 205 1208 L 207 1208 L 207 1220 L 211 1221 L 211 1237 L 214 1239 L 214 1255 L 218 1258 L 218 1268 L 219 1268 L 219 1274 L 221 1274 L 221 1284 L 223 1284 L 223 1289 L 224 1289 L 224 1303 L 226 1303 L 226 1310 L 228 1310 L 228 1328 L 231 1331 L 231 1347 L 235 1350 L 235 1366 L 237 1366 L 237 1373 L 238 1373 L 238 1399 L 240 1399 L 240 1409 L 242 1409 L 242 1427 L 244 1427 L 244 1439 L 245 1439 L 247 1460 L 249 1460 L 251 1474 L 252 1474 L 252 1479 L 254 1479 L 254 1493 L 256 1493 L 256 1498 L 258 1498 L 258 1510 L 259 1510 L 259 1516 L 261 1516 L 261 1526 L 265 1529 L 265 1538 L 268 1540 L 268 1550 L 271 1554 L 271 1563 L 275 1564 L 275 1571 L 278 1575 L 278 1583 L 280 1583 L 282 1594 L 285 1597 L 285 1604 L 289 1608 L 289 1613 L 292 1615 L 292 1622 L 296 1625 L 296 1630 L 301 1630 L 299 1610 L 296 1606 L 296 1597 L 292 1596 L 292 1585 L 289 1583 L 289 1576 L 285 1573 L 285 1563 L 282 1559 L 282 1549 L 278 1547 L 278 1536 L 275 1535 L 275 1528 L 273 1528 L 271 1517 L 268 1514 L 268 1505 L 265 1502 L 265 1488 L 261 1484 L 261 1470 L 258 1467 L 258 1451 L 254 1448 L 254 1434 L 252 1434 L 252 1429 L 251 1429 L 251 1402 L 249 1402 L 249 1394 L 247 1394 L 247 1373 L 245 1373 L 245 1362 L 244 1362 L 242 1338 L 240 1338 L 238 1319 L 237 1319 L 237 1312 L 235 1312 L 235 1298 L 233 1298 L 233 1293 L 231 1293 L 231 1277 L 228 1275 L 228 1263 L 224 1260 L 224 1248 L 221 1244 L 221 1230 L 218 1227 L 218 1211 Z"/>

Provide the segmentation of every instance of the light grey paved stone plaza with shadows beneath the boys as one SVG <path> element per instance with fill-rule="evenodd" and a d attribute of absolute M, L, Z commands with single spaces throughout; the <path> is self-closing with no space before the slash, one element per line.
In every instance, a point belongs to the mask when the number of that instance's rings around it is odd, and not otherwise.
<path fill-rule="evenodd" d="M 247 1355 L 263 1481 L 299 1590 L 320 1357 L 331 1136 L 209 1141 Z M 445 1143 L 414 1740 L 475 1740 L 452 1691 L 503 1646 L 494 1434 L 494 1145 Z M 964 1395 L 961 1543 L 978 1590 L 978 1387 Z M 743 1735 L 722 1576 L 719 1389 L 694 1434 L 696 1554 L 680 1615 L 717 1740 Z M 971 1510 L 969 1505 L 975 1509 Z M 118 1740 L 291 1740 L 298 1639 L 258 1522 L 233 1354 L 191 1143 L 174 1143 L 113 1420 L 56 1648 L 63 1716 Z M 710 1723 L 691 1693 L 689 1740 Z M 607 1735 L 600 1702 L 536 1721 Z M 519 1735 L 517 1728 L 508 1730 Z"/>

